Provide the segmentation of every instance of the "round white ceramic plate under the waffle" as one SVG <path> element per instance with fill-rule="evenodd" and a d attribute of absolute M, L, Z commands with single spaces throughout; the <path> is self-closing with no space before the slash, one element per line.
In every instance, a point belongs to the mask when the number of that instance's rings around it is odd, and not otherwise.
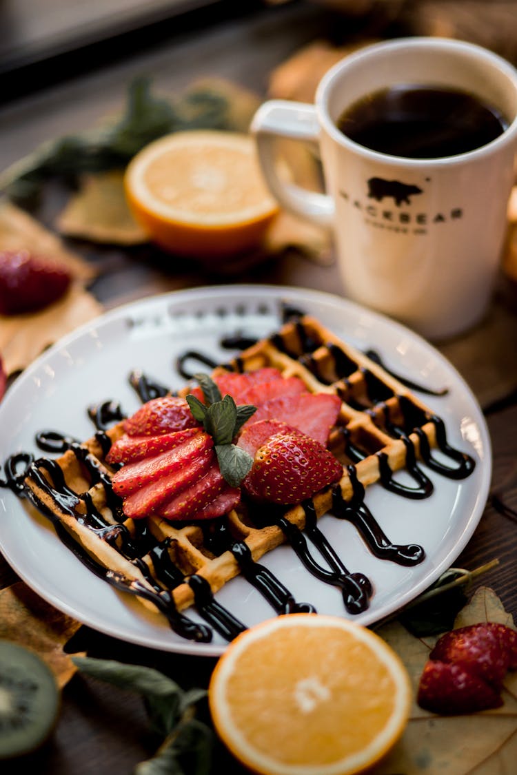
<path fill-rule="evenodd" d="M 374 585 L 370 608 L 355 617 L 369 625 L 411 601 L 450 567 L 481 518 L 491 477 L 488 430 L 467 385 L 432 346 L 381 315 L 331 294 L 251 285 L 177 291 L 117 308 L 60 340 L 12 385 L 0 403 L 0 460 L 22 450 L 42 454 L 34 442 L 42 429 L 87 439 L 95 431 L 88 406 L 114 399 L 129 414 L 140 405 L 128 382 L 131 370 L 181 387 L 184 379 L 176 370 L 181 353 L 196 350 L 225 362 L 233 352 L 220 346 L 223 336 L 267 336 L 281 325 L 284 304 L 315 315 L 361 350 L 374 348 L 398 374 L 434 389 L 447 387 L 443 397 L 420 398 L 443 418 L 450 444 L 476 460 L 465 480 L 427 470 L 435 490 L 422 501 L 401 498 L 378 484 L 368 487 L 367 506 L 391 541 L 424 547 L 426 559 L 415 567 L 377 560 L 348 522 L 332 515 L 320 520 L 347 569 L 363 572 Z M 30 516 L 9 490 L 0 489 L 0 512 L 2 553 L 26 584 L 56 608 L 143 646 L 205 656 L 225 649 L 216 633 L 209 644 L 182 639 L 164 617 L 95 577 L 60 543 L 50 523 Z M 309 574 L 289 546 L 261 562 L 297 601 L 311 602 L 320 613 L 350 616 L 339 590 Z M 217 600 L 248 626 L 274 615 L 240 577 L 226 584 Z M 194 611 L 188 613 L 201 621 Z"/>

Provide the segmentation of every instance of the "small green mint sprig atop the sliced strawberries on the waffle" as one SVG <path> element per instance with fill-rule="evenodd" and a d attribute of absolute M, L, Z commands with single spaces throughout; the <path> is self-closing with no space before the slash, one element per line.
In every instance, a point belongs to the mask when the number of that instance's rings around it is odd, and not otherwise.
<path fill-rule="evenodd" d="M 185 398 L 196 420 L 202 422 L 205 431 L 214 439 L 222 477 L 230 487 L 240 487 L 253 466 L 253 458 L 233 444 L 233 439 L 244 423 L 257 412 L 257 407 L 251 404 L 237 406 L 231 395 L 222 398 L 219 387 L 208 374 L 195 374 L 194 377 L 203 391 L 206 403 L 203 404 L 195 395 L 187 395 Z"/>

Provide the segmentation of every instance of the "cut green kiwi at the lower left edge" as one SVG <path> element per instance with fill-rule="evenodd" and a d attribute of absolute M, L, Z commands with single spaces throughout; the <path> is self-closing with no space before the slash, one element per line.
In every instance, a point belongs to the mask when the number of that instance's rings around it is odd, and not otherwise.
<path fill-rule="evenodd" d="M 60 691 L 47 664 L 29 649 L 0 639 L 0 759 L 38 748 L 59 708 Z"/>

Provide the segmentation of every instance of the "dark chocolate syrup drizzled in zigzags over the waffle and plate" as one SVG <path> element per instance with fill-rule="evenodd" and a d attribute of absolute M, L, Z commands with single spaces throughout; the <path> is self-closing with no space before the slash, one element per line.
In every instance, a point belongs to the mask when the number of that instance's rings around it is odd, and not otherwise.
<path fill-rule="evenodd" d="M 278 350 L 299 360 L 323 382 L 322 375 L 318 373 L 317 360 L 312 356 L 312 353 L 322 343 L 317 341 L 305 329 L 301 320 L 299 320 L 301 315 L 302 313 L 298 310 L 291 310 L 288 307 L 284 309 L 284 319 L 294 319 L 296 321 L 296 331 L 301 344 L 302 354 L 290 352 L 280 334 L 271 336 L 271 341 L 277 346 Z M 253 343 L 253 340 L 241 333 L 226 337 L 221 341 L 223 347 L 232 350 L 243 349 L 250 346 L 251 343 Z M 350 405 L 355 405 L 360 411 L 370 413 L 376 425 L 380 425 L 384 432 L 387 432 L 393 438 L 402 439 L 402 442 L 405 444 L 405 472 L 415 481 L 415 486 L 409 487 L 395 480 L 394 473 L 389 466 L 388 456 L 382 450 L 377 449 L 374 450 L 374 454 L 377 455 L 380 483 L 383 487 L 405 498 L 427 498 L 432 493 L 433 483 L 416 463 L 415 446 L 412 439 L 409 438 L 411 434 L 415 434 L 418 438 L 420 456 L 431 470 L 452 479 L 461 479 L 471 473 L 474 469 L 474 460 L 467 454 L 461 453 L 450 446 L 446 439 L 445 425 L 441 418 L 430 412 L 423 412 L 421 408 L 414 405 L 405 396 L 394 396 L 390 387 L 379 380 L 371 371 L 364 368 L 360 369 L 358 364 L 335 344 L 330 343 L 326 347 L 333 358 L 333 367 L 341 385 L 342 398 Z M 368 354 L 372 358 L 372 353 Z M 373 357 L 372 360 L 377 359 Z M 191 361 L 200 363 L 202 367 L 209 367 L 210 369 L 218 365 L 209 356 L 188 350 L 182 353 L 176 362 L 179 374 L 186 379 L 191 379 L 198 370 L 195 369 L 191 373 L 187 369 L 186 364 Z M 377 363 L 380 363 L 380 360 L 377 360 Z M 225 365 L 229 367 L 228 364 Z M 233 360 L 232 367 L 236 370 L 243 370 L 243 363 L 238 356 Z M 363 372 L 364 384 L 366 386 L 366 396 L 360 400 L 350 395 L 350 383 L 348 381 L 350 375 L 359 369 Z M 410 387 L 422 392 L 436 395 L 446 394 L 446 391 L 429 391 L 425 387 L 404 381 L 401 377 L 397 378 L 399 381 L 405 382 Z M 140 371 L 133 371 L 129 375 L 129 382 L 142 401 L 149 401 L 151 398 L 157 398 L 171 392 L 167 386 L 151 380 L 150 377 L 147 377 Z M 391 398 L 396 398 L 398 401 L 402 422 L 400 418 L 395 422 L 390 416 L 389 401 Z M 364 401 L 367 401 L 367 405 L 364 404 Z M 119 422 L 125 417 L 122 408 L 115 401 L 104 401 L 101 404 L 89 407 L 88 416 L 97 429 L 95 438 L 106 454 L 111 446 L 111 439 L 106 431 L 113 423 Z M 453 464 L 449 465 L 431 453 L 429 440 L 421 428 L 426 422 L 433 422 L 435 425 L 436 446 L 442 457 L 448 458 Z M 352 439 L 350 431 L 346 427 L 340 428 L 339 434 L 344 443 L 344 453 L 350 460 L 346 470 L 353 487 L 353 495 L 349 500 L 345 500 L 341 487 L 339 484 L 336 484 L 333 487 L 333 515 L 339 519 L 346 519 L 353 524 L 368 549 L 379 559 L 390 560 L 408 567 L 422 562 L 425 556 L 422 546 L 418 544 L 398 545 L 391 543 L 364 503 L 364 486 L 357 478 L 355 463 L 359 463 L 360 460 L 370 456 L 372 450 L 363 448 L 357 440 Z M 34 456 L 29 453 L 12 455 L 5 463 L 6 477 L 5 480 L 0 479 L 0 486 L 10 487 L 20 498 L 28 498 L 32 501 L 33 505 L 40 512 L 50 518 L 61 541 L 95 575 L 106 580 L 119 590 L 152 601 L 158 610 L 166 616 L 174 632 L 186 639 L 196 642 L 209 642 L 212 639 L 211 628 L 213 628 L 225 639 L 232 640 L 239 632 L 246 629 L 246 625 L 243 622 L 240 622 L 230 611 L 227 611 L 218 601 L 215 601 L 209 583 L 205 579 L 197 574 L 185 577 L 181 570 L 174 565 L 169 551 L 170 539 L 162 541 L 155 539 L 144 521 L 130 521 L 132 522 L 132 529 L 129 529 L 128 525 L 124 523 L 125 515 L 122 512 L 122 501 L 113 492 L 110 477 L 105 474 L 105 471 L 95 457 L 88 453 L 88 449 L 81 446 L 77 439 L 63 436 L 59 432 L 46 430 L 37 434 L 36 443 L 40 449 L 50 453 L 60 454 L 67 449 L 74 453 L 81 465 L 88 471 L 91 477 L 91 484 L 102 485 L 105 491 L 106 503 L 109 505 L 115 524 L 106 522 L 88 493 L 80 498 L 78 494 L 72 491 L 67 486 L 63 472 L 57 462 L 45 457 L 35 460 Z M 46 472 L 47 476 L 43 472 Z M 43 501 L 40 501 L 40 498 L 37 498 L 33 491 L 26 486 L 24 483 L 26 477 L 30 477 L 36 482 L 47 495 L 47 498 L 53 501 L 58 512 L 64 512 L 67 515 L 73 516 L 78 522 L 94 531 L 99 538 L 115 547 L 122 556 L 132 562 L 140 570 L 150 588 L 137 579 L 126 577 L 124 574 L 113 570 L 107 570 L 101 563 L 98 563 L 74 540 L 71 533 L 60 522 L 53 510 Z M 78 511 L 77 508 L 81 499 L 83 508 L 84 506 L 86 507 L 84 513 L 82 510 Z M 305 514 L 305 528 L 303 532 L 289 521 L 286 516 L 288 508 L 285 507 L 271 506 L 270 508 L 268 506 L 267 513 L 264 513 L 264 508 L 259 510 L 250 505 L 248 517 L 259 528 L 264 525 L 277 525 L 284 533 L 285 539 L 295 550 L 304 567 L 315 577 L 340 589 L 347 611 L 351 614 L 358 614 L 366 610 L 373 594 L 371 581 L 360 572 L 351 573 L 343 564 L 336 550 L 331 546 L 321 529 L 319 529 L 312 498 L 304 501 L 302 508 Z M 295 611 L 315 611 L 311 604 L 295 601 L 288 588 L 284 587 L 284 584 L 281 584 L 281 581 L 270 570 L 253 561 L 250 549 L 246 543 L 233 538 L 226 516 L 209 522 L 203 522 L 202 524 L 199 523 L 199 526 L 203 532 L 206 548 L 215 556 L 219 556 L 224 551 L 230 551 L 237 563 L 239 563 L 240 573 L 243 578 L 260 591 L 260 594 L 264 596 L 277 614 Z M 327 567 L 324 567 L 312 555 L 305 536 L 318 550 L 319 556 L 321 556 L 322 560 L 325 560 Z M 150 565 L 153 568 L 153 574 L 150 572 Z M 194 594 L 195 608 L 198 614 L 210 626 L 193 622 L 177 610 L 171 591 L 178 584 L 185 582 L 189 584 Z"/>

